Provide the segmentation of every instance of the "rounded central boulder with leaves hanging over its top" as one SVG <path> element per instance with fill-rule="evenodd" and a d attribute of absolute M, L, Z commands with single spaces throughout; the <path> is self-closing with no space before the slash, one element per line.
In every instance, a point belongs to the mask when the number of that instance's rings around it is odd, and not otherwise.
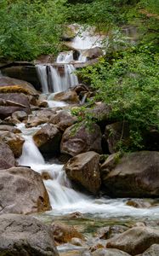
<path fill-rule="evenodd" d="M 63 134 L 60 144 L 61 153 L 75 156 L 87 151 L 102 152 L 101 131 L 98 125 L 71 125 Z"/>

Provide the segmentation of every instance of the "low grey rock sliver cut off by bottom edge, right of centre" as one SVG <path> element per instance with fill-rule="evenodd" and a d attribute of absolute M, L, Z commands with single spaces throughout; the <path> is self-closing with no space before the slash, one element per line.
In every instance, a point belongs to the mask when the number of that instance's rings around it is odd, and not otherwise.
<path fill-rule="evenodd" d="M 130 254 L 117 249 L 99 249 L 92 253 L 92 256 L 130 256 Z"/>

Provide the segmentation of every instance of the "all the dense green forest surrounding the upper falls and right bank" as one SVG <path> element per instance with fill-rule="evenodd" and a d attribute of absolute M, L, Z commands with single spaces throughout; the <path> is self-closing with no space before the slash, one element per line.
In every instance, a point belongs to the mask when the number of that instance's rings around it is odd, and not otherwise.
<path fill-rule="evenodd" d="M 62 38 L 71 33 L 68 24 L 95 26 L 103 40 L 105 56 L 94 67 L 79 72 L 96 95 L 111 107 L 111 118 L 130 127 L 131 143 L 124 150 L 144 148 L 143 138 L 158 130 L 159 110 L 159 4 L 155 0 L 2 0 L 0 55 L 4 59 L 31 61 L 38 55 L 57 55 Z M 138 32 L 135 44 L 122 33 L 123 26 Z M 81 109 L 85 119 L 94 116 Z M 75 113 L 76 114 L 76 113 Z"/>

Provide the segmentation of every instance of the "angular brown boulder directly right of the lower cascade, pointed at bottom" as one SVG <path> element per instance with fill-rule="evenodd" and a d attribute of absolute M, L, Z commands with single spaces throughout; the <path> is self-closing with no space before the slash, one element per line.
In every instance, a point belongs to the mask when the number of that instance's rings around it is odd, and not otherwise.
<path fill-rule="evenodd" d="M 96 194 L 100 188 L 99 154 L 90 151 L 71 158 L 65 165 L 67 176 Z"/>

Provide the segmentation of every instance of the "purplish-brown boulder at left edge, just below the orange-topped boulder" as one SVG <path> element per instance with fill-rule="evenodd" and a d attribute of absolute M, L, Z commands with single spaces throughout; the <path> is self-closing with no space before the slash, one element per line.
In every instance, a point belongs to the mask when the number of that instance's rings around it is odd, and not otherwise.
<path fill-rule="evenodd" d="M 0 118 L 5 119 L 15 111 L 31 113 L 27 96 L 23 93 L 0 93 Z"/>

